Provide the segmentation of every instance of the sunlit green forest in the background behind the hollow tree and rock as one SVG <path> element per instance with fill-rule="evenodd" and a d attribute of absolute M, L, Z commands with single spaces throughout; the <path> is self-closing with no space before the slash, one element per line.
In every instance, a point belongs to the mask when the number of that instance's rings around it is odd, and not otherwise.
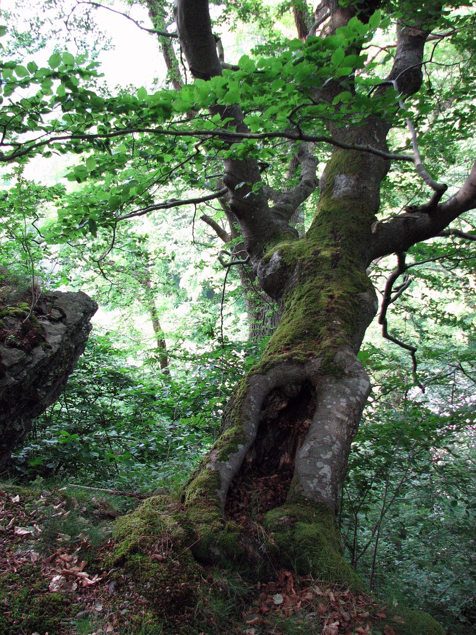
<path fill-rule="evenodd" d="M 154 6 L 158 17 L 151 22 Z M 119 110 L 157 88 L 180 88 L 190 77 L 183 74 L 177 45 L 154 32 L 167 29 L 169 8 L 164 5 L 161 13 L 162 4 L 154 6 L 100 8 L 66 0 L 4 5 L 4 80 L 15 73 L 17 95 L 24 91 L 27 98 L 22 77 L 42 64 L 50 70 L 79 64 L 82 70 L 69 81 L 87 79 L 98 94 L 117 98 Z M 291 6 L 298 5 L 217 4 L 213 29 L 221 35 L 225 62 L 244 69 L 251 58 L 296 37 Z M 97 20 L 110 10 L 129 16 L 119 19 L 130 29 L 142 28 L 140 37 L 154 44 L 159 62 L 142 87 L 111 84 L 101 76 L 101 56 L 110 54 L 114 34 Z M 464 5 L 454 11 L 454 29 L 471 11 Z M 383 23 L 374 37 L 371 55 L 385 65 L 392 34 Z M 465 130 L 475 123 L 474 61 L 469 64 L 457 42 L 442 38 L 432 44 L 437 71 L 432 79 L 425 76 L 414 114 L 427 131 L 421 149 L 433 175 L 444 173 L 456 184 L 475 149 L 472 136 L 458 134 L 459 120 L 465 120 Z M 76 62 L 68 57 L 72 53 Z M 49 86 L 60 97 L 70 93 L 67 82 L 46 73 L 41 85 L 46 94 Z M 4 100 L 8 90 L 7 84 Z M 459 93 L 466 100 L 461 112 Z M 437 102 L 441 95 L 444 102 Z M 192 103 L 187 98 L 176 98 L 176 117 L 186 116 Z M 86 106 L 94 109 L 92 102 Z M 453 107 L 451 121 L 439 119 L 440 111 Z M 269 117 L 273 109 L 279 105 L 268 105 Z M 34 109 L 29 117 L 34 121 Z M 100 489 L 180 497 L 215 441 L 235 385 L 275 324 L 277 307 L 258 290 L 250 267 L 223 266 L 240 258 L 240 238 L 216 197 L 202 200 L 209 182 L 215 183 L 213 157 L 204 159 L 205 176 L 199 178 L 201 159 L 194 156 L 190 164 L 194 148 L 187 138 L 176 139 L 173 155 L 169 141 L 162 152 L 146 143 L 135 152 L 130 143 L 108 142 L 106 158 L 74 149 L 60 154 L 53 147 L 29 163 L 20 157 L 1 168 L 0 291 L 81 289 L 100 307 L 65 392 L 36 420 L 3 474 L 6 491 L 15 493 L 17 485 L 40 492 L 67 488 L 74 497 L 83 491 L 87 505 L 95 504 L 91 497 L 97 500 Z M 402 135 L 397 144 L 409 141 Z M 274 150 L 261 150 L 267 164 L 267 152 Z M 402 164 L 385 180 L 382 217 L 425 200 L 423 183 L 421 201 L 402 197 L 400 184 L 410 169 Z M 288 166 L 274 164 L 268 184 L 293 178 Z M 317 196 L 300 206 L 298 231 L 309 227 Z M 200 202 L 173 208 L 173 201 L 194 197 Z M 103 222 L 105 208 L 121 222 Z M 377 319 L 367 331 L 359 359 L 373 388 L 352 445 L 338 518 L 347 558 L 373 592 L 393 606 L 430 612 L 448 633 L 469 635 L 476 627 L 475 214 L 458 223 L 450 241 L 435 238 L 409 250 L 407 272 L 388 307 L 388 331 L 411 348 L 418 364 L 411 351 L 382 337 Z M 385 257 L 371 265 L 381 294 L 396 264 L 395 257 Z M 75 485 L 98 490 L 88 498 L 89 490 Z M 104 497 L 118 509 L 129 500 Z M 82 532 L 93 531 L 81 521 L 65 528 L 52 518 L 52 541 L 59 532 L 79 544 Z M 88 624 L 78 622 L 77 632 L 91 632 Z"/>

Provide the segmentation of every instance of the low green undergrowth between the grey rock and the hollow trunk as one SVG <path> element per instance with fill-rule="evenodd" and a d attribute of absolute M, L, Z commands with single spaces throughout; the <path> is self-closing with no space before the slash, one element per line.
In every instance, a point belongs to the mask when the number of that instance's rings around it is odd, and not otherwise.
<path fill-rule="evenodd" d="M 183 352 L 173 378 L 130 366 L 109 335 L 89 337 L 64 394 L 13 456 L 29 478 L 69 478 L 119 488 L 176 488 L 218 433 L 235 382 L 260 347 Z"/>

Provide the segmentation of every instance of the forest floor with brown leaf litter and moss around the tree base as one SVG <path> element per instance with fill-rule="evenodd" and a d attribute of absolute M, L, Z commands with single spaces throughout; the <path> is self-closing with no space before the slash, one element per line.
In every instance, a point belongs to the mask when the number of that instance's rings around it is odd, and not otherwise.
<path fill-rule="evenodd" d="M 114 519 L 138 504 L 74 486 L 0 483 L 0 635 L 175 635 L 149 626 L 140 584 L 118 584 L 110 565 Z M 265 583 L 205 571 L 203 635 L 395 635 L 385 606 L 362 592 L 286 570 Z"/>

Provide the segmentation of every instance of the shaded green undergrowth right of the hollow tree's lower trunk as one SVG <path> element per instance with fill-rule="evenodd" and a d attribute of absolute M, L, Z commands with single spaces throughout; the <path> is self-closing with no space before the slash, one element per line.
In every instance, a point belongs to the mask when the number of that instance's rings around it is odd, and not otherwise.
<path fill-rule="evenodd" d="M 464 370 L 474 356 L 459 342 L 462 365 L 451 366 L 450 333 L 454 325 L 440 326 L 430 337 L 438 348 L 419 349 L 425 394 L 405 391 L 399 354 L 366 345 L 376 387 L 352 448 L 341 531 L 355 569 L 390 605 L 419 606 L 463 635 L 473 631 L 476 562 L 474 380 Z"/>

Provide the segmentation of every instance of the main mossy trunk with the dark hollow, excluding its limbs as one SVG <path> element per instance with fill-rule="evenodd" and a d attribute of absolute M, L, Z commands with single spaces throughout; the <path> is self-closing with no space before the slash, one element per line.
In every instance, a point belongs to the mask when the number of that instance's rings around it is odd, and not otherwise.
<path fill-rule="evenodd" d="M 197 519 L 206 512 L 201 533 L 208 554 L 230 556 L 230 543 L 220 536 L 230 530 L 225 517 L 236 520 L 237 498 L 258 490 L 259 522 L 274 535 L 282 519 L 296 518 L 300 509 L 314 518 L 307 525 L 317 523 L 321 534 L 325 526 L 324 539 L 338 544 L 332 518 L 370 389 L 357 352 L 378 307 L 365 272 L 378 195 L 369 191 L 363 196 L 354 185 L 369 170 L 375 180 L 387 171 L 382 159 L 357 161 L 355 156 L 350 175 L 352 156 L 343 154 L 337 150 L 327 164 L 320 203 L 305 238 L 280 243 L 261 259 L 261 284 L 282 298 L 281 322 L 260 362 L 237 387 L 220 438 L 187 490 Z M 215 536 L 209 523 L 213 508 L 216 521 L 223 519 Z M 245 511 L 241 523 L 248 522 Z M 242 544 L 239 531 L 236 539 Z M 255 547 L 248 542 L 248 560 L 253 551 L 259 561 Z M 290 535 L 283 538 L 282 564 L 289 565 L 295 547 Z M 339 549 L 331 551 L 344 571 Z M 327 561 L 307 554 L 300 572 L 329 577 L 327 567 Z M 352 580 L 350 570 L 345 575 Z"/>

